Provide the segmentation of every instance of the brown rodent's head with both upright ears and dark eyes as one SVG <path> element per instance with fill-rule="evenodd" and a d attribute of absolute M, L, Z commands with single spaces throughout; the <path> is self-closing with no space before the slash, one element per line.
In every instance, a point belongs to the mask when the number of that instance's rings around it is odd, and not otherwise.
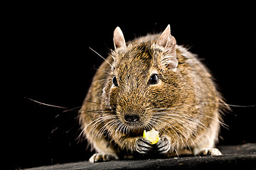
<path fill-rule="evenodd" d="M 104 89 L 104 106 L 114 110 L 120 127 L 127 127 L 124 130 L 151 130 L 157 126 L 152 117 L 155 109 L 169 108 L 178 98 L 176 40 L 170 26 L 156 40 L 128 45 L 117 27 L 114 48 L 112 79 Z"/>

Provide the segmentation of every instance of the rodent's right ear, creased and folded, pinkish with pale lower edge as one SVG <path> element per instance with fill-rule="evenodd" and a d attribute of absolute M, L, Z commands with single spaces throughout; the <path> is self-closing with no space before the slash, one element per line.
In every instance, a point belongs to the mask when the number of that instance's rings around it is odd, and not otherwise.
<path fill-rule="evenodd" d="M 164 47 L 164 56 L 161 58 L 161 64 L 169 69 L 175 69 L 178 66 L 178 60 L 176 59 L 176 40 L 171 36 L 170 25 L 160 35 L 156 41 L 156 45 Z"/>

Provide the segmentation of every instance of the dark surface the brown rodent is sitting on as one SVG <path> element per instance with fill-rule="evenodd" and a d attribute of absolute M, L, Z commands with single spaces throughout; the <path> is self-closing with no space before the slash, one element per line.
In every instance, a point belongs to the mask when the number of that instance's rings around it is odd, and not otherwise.
<path fill-rule="evenodd" d="M 75 162 L 41 166 L 30 170 L 53 169 L 256 169 L 256 144 L 219 147 L 222 156 L 174 157 L 170 159 Z"/>

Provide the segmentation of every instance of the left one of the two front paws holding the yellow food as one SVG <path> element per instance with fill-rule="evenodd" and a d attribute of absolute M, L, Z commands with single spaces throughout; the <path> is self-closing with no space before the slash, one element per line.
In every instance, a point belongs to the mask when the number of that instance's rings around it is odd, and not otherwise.
<path fill-rule="evenodd" d="M 151 142 L 147 140 L 145 137 L 139 137 L 139 139 L 135 142 L 135 149 L 140 154 L 149 154 L 152 152 L 153 147 Z"/>

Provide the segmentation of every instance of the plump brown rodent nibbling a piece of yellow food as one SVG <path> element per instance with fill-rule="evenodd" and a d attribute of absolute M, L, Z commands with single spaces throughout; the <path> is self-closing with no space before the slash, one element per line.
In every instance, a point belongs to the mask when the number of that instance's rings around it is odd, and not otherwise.
<path fill-rule="evenodd" d="M 96 150 L 90 162 L 125 156 L 220 155 L 215 148 L 223 100 L 206 67 L 163 33 L 125 42 L 114 30 L 114 50 L 95 74 L 80 109 L 82 135 Z M 144 130 L 159 131 L 155 145 Z"/>

